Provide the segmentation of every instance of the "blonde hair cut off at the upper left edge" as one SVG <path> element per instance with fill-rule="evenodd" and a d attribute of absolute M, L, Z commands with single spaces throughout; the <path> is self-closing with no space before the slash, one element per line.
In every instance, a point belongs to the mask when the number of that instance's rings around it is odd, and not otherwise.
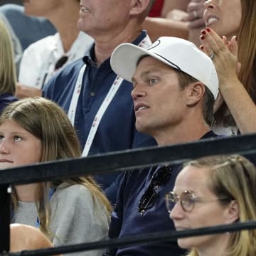
<path fill-rule="evenodd" d="M 0 95 L 14 95 L 16 88 L 16 67 L 11 36 L 3 21 L 0 21 Z"/>

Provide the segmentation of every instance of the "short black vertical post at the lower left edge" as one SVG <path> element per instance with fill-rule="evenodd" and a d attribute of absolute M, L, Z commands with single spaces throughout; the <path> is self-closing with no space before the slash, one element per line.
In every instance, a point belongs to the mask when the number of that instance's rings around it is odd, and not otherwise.
<path fill-rule="evenodd" d="M 0 186 L 0 254 L 10 250 L 11 201 L 9 185 Z"/>

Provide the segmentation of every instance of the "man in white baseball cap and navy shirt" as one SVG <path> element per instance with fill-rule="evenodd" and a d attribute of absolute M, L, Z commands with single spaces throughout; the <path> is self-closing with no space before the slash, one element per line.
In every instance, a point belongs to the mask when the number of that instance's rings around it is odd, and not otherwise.
<path fill-rule="evenodd" d="M 193 43 L 161 37 L 146 50 L 124 43 L 117 46 L 110 61 L 114 72 L 133 84 L 139 132 L 153 136 L 159 146 L 216 137 L 210 126 L 218 76 L 212 60 Z M 154 166 L 125 173 L 112 213 L 110 238 L 174 229 L 164 196 L 172 190 L 179 170 L 180 166 Z M 181 218 L 184 214 L 181 210 Z M 109 253 L 182 254 L 175 242 L 119 247 Z"/>

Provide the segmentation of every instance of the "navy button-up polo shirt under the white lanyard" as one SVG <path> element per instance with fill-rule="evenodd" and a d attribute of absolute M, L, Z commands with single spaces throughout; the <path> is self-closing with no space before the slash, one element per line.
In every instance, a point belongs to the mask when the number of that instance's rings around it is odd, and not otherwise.
<path fill-rule="evenodd" d="M 138 45 L 145 36 L 146 33 L 142 31 L 133 43 Z M 95 114 L 97 114 L 97 110 L 99 110 L 116 78 L 116 74 L 110 67 L 110 58 L 97 68 L 94 56 L 93 45 L 84 58 L 70 63 L 63 70 L 60 70 L 60 73 L 55 74 L 43 88 L 43 96 L 57 102 L 68 113 L 78 74 L 84 63 L 87 65 L 75 114 L 75 129 L 82 149 Z M 89 154 L 156 145 L 152 137 L 135 129 L 131 91 L 132 84 L 124 80 L 102 117 Z M 100 181 L 104 188 L 107 188 L 113 183 L 116 176 L 117 174 L 98 176 L 97 181 Z"/>

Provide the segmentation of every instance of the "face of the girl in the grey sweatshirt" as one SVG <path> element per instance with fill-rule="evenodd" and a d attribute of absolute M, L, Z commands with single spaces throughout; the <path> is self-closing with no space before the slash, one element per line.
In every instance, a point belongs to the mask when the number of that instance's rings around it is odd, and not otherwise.
<path fill-rule="evenodd" d="M 12 120 L 0 125 L 0 169 L 36 164 L 41 160 L 41 139 Z"/>

